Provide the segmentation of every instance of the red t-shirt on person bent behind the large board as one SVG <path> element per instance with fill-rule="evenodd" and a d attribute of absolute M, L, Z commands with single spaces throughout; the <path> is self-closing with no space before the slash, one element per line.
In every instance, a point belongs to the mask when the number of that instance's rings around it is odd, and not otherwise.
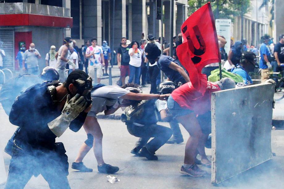
<path fill-rule="evenodd" d="M 171 95 L 180 107 L 193 110 L 196 114 L 203 114 L 211 109 L 211 92 L 219 90 L 221 89 L 218 84 L 207 81 L 206 91 L 202 95 L 191 82 L 188 82 L 175 89 Z"/>

